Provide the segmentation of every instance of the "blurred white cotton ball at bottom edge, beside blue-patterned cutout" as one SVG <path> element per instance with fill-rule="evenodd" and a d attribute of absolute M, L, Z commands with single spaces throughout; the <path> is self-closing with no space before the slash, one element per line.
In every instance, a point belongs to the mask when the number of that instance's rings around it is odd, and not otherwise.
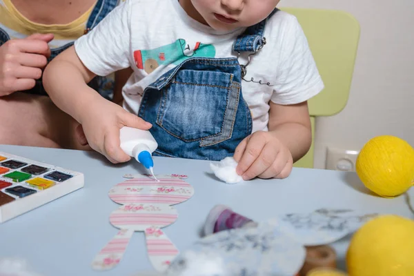
<path fill-rule="evenodd" d="M 213 251 L 188 250 L 175 259 L 167 270 L 168 276 L 230 276 L 224 260 Z"/>

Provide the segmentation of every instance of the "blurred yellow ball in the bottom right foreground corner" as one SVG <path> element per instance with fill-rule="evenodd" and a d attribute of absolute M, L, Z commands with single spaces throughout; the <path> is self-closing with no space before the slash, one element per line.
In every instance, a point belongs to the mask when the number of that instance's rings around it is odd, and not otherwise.
<path fill-rule="evenodd" d="M 349 276 L 413 276 L 414 221 L 382 215 L 366 222 L 346 254 Z"/>

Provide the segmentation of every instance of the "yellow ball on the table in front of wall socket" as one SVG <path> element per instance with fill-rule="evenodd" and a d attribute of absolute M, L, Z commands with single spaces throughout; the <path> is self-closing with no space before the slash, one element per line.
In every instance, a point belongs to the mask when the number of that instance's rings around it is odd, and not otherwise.
<path fill-rule="evenodd" d="M 366 188 L 377 195 L 401 195 L 413 186 L 414 149 L 398 137 L 375 137 L 359 152 L 356 171 Z"/>

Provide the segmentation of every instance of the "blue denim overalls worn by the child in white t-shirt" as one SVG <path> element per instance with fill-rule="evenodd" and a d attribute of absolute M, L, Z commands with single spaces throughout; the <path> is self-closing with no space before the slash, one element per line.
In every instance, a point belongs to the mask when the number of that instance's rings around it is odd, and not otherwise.
<path fill-rule="evenodd" d="M 266 43 L 266 22 L 247 28 L 233 43 L 235 52 L 248 52 L 248 63 Z M 235 57 L 194 57 L 150 84 L 138 116 L 152 124 L 150 132 L 159 144 L 154 155 L 208 160 L 233 156 L 252 132 L 242 95 L 248 63 L 240 65 Z"/>

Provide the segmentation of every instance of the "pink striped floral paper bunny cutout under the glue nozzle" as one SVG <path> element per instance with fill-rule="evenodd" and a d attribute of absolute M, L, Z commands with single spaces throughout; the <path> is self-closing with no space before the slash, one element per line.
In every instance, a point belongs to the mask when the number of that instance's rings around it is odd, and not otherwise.
<path fill-rule="evenodd" d="M 123 204 L 110 215 L 110 223 L 119 228 L 115 237 L 98 253 L 92 262 L 95 270 L 108 270 L 121 262 L 135 231 L 146 237 L 148 257 L 157 271 L 164 271 L 179 254 L 161 228 L 175 222 L 177 209 L 172 205 L 190 199 L 193 187 L 186 175 L 124 175 L 126 181 L 115 185 L 109 197 Z"/>

